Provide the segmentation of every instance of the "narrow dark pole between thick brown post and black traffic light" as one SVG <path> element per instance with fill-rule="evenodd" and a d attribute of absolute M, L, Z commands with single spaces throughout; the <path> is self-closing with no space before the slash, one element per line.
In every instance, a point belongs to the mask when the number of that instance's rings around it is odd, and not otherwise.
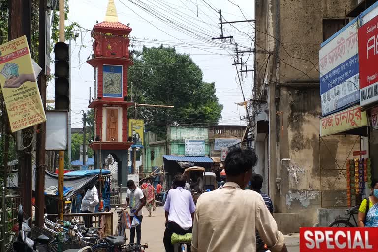
<path fill-rule="evenodd" d="M 46 111 L 46 73 L 45 73 L 45 55 L 46 55 L 46 0 L 39 0 L 39 66 L 42 71 L 38 77 L 38 88 L 41 94 L 43 109 Z M 45 170 L 46 170 L 46 123 L 39 125 L 37 134 L 37 154 L 36 154 L 36 173 L 35 173 L 35 225 L 43 227 L 43 215 L 45 210 Z"/>

